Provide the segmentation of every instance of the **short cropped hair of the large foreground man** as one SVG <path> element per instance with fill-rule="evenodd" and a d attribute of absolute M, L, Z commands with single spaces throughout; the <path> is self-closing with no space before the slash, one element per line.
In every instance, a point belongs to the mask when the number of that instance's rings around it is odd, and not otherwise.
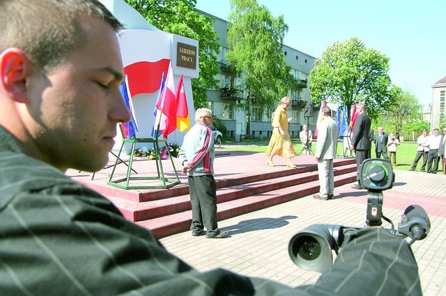
<path fill-rule="evenodd" d="M 97 0 L 0 0 L 0 53 L 10 47 L 47 72 L 81 47 L 79 17 L 102 19 L 117 32 L 123 25 Z"/>

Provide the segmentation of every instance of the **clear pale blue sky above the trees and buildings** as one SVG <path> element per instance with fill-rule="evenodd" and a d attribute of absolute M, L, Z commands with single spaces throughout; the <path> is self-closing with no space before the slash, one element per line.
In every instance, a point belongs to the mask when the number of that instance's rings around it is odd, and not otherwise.
<path fill-rule="evenodd" d="M 394 85 L 432 102 L 432 85 L 446 76 L 445 0 L 257 0 L 284 16 L 284 44 L 320 58 L 334 42 L 359 38 L 385 54 Z M 197 9 L 227 20 L 230 0 L 197 0 Z"/>

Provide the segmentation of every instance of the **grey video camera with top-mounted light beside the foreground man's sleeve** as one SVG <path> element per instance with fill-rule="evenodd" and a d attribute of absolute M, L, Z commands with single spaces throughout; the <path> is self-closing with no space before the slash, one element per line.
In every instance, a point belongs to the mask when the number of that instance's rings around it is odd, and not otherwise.
<path fill-rule="evenodd" d="M 360 183 L 368 190 L 367 219 L 365 227 L 380 226 L 381 218 L 390 222 L 387 229 L 395 236 L 410 237 L 415 240 L 426 238 L 431 228 L 431 221 L 421 206 L 411 205 L 406 208 L 398 224 L 398 230 L 387 217 L 383 216 L 383 190 L 392 188 L 394 173 L 387 160 L 366 159 L 361 166 Z M 333 224 L 314 224 L 296 233 L 288 246 L 291 261 L 298 267 L 316 272 L 326 272 L 332 268 L 332 251 L 338 254 L 344 242 L 344 236 L 360 227 L 344 227 Z"/>

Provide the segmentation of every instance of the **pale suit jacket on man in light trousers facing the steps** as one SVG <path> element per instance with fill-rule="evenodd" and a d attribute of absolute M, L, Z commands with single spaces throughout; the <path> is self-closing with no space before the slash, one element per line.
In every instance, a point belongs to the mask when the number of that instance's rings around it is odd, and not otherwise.
<path fill-rule="evenodd" d="M 336 158 L 337 124 L 332 117 L 325 117 L 318 125 L 318 140 L 314 156 L 320 159 Z"/>

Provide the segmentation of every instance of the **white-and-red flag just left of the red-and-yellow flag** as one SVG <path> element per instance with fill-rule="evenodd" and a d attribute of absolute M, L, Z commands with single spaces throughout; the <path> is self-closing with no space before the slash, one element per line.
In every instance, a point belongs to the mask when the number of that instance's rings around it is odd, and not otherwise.
<path fill-rule="evenodd" d="M 164 118 L 160 123 L 160 132 L 167 137 L 171 132 L 176 130 L 176 98 L 175 98 L 175 85 L 174 74 L 172 73 L 172 67 L 169 63 L 169 70 L 167 71 L 166 84 L 162 89 L 160 97 L 156 103 L 156 108 L 161 111 Z M 157 123 L 156 123 L 157 124 Z M 163 129 L 164 128 L 164 129 Z"/>

